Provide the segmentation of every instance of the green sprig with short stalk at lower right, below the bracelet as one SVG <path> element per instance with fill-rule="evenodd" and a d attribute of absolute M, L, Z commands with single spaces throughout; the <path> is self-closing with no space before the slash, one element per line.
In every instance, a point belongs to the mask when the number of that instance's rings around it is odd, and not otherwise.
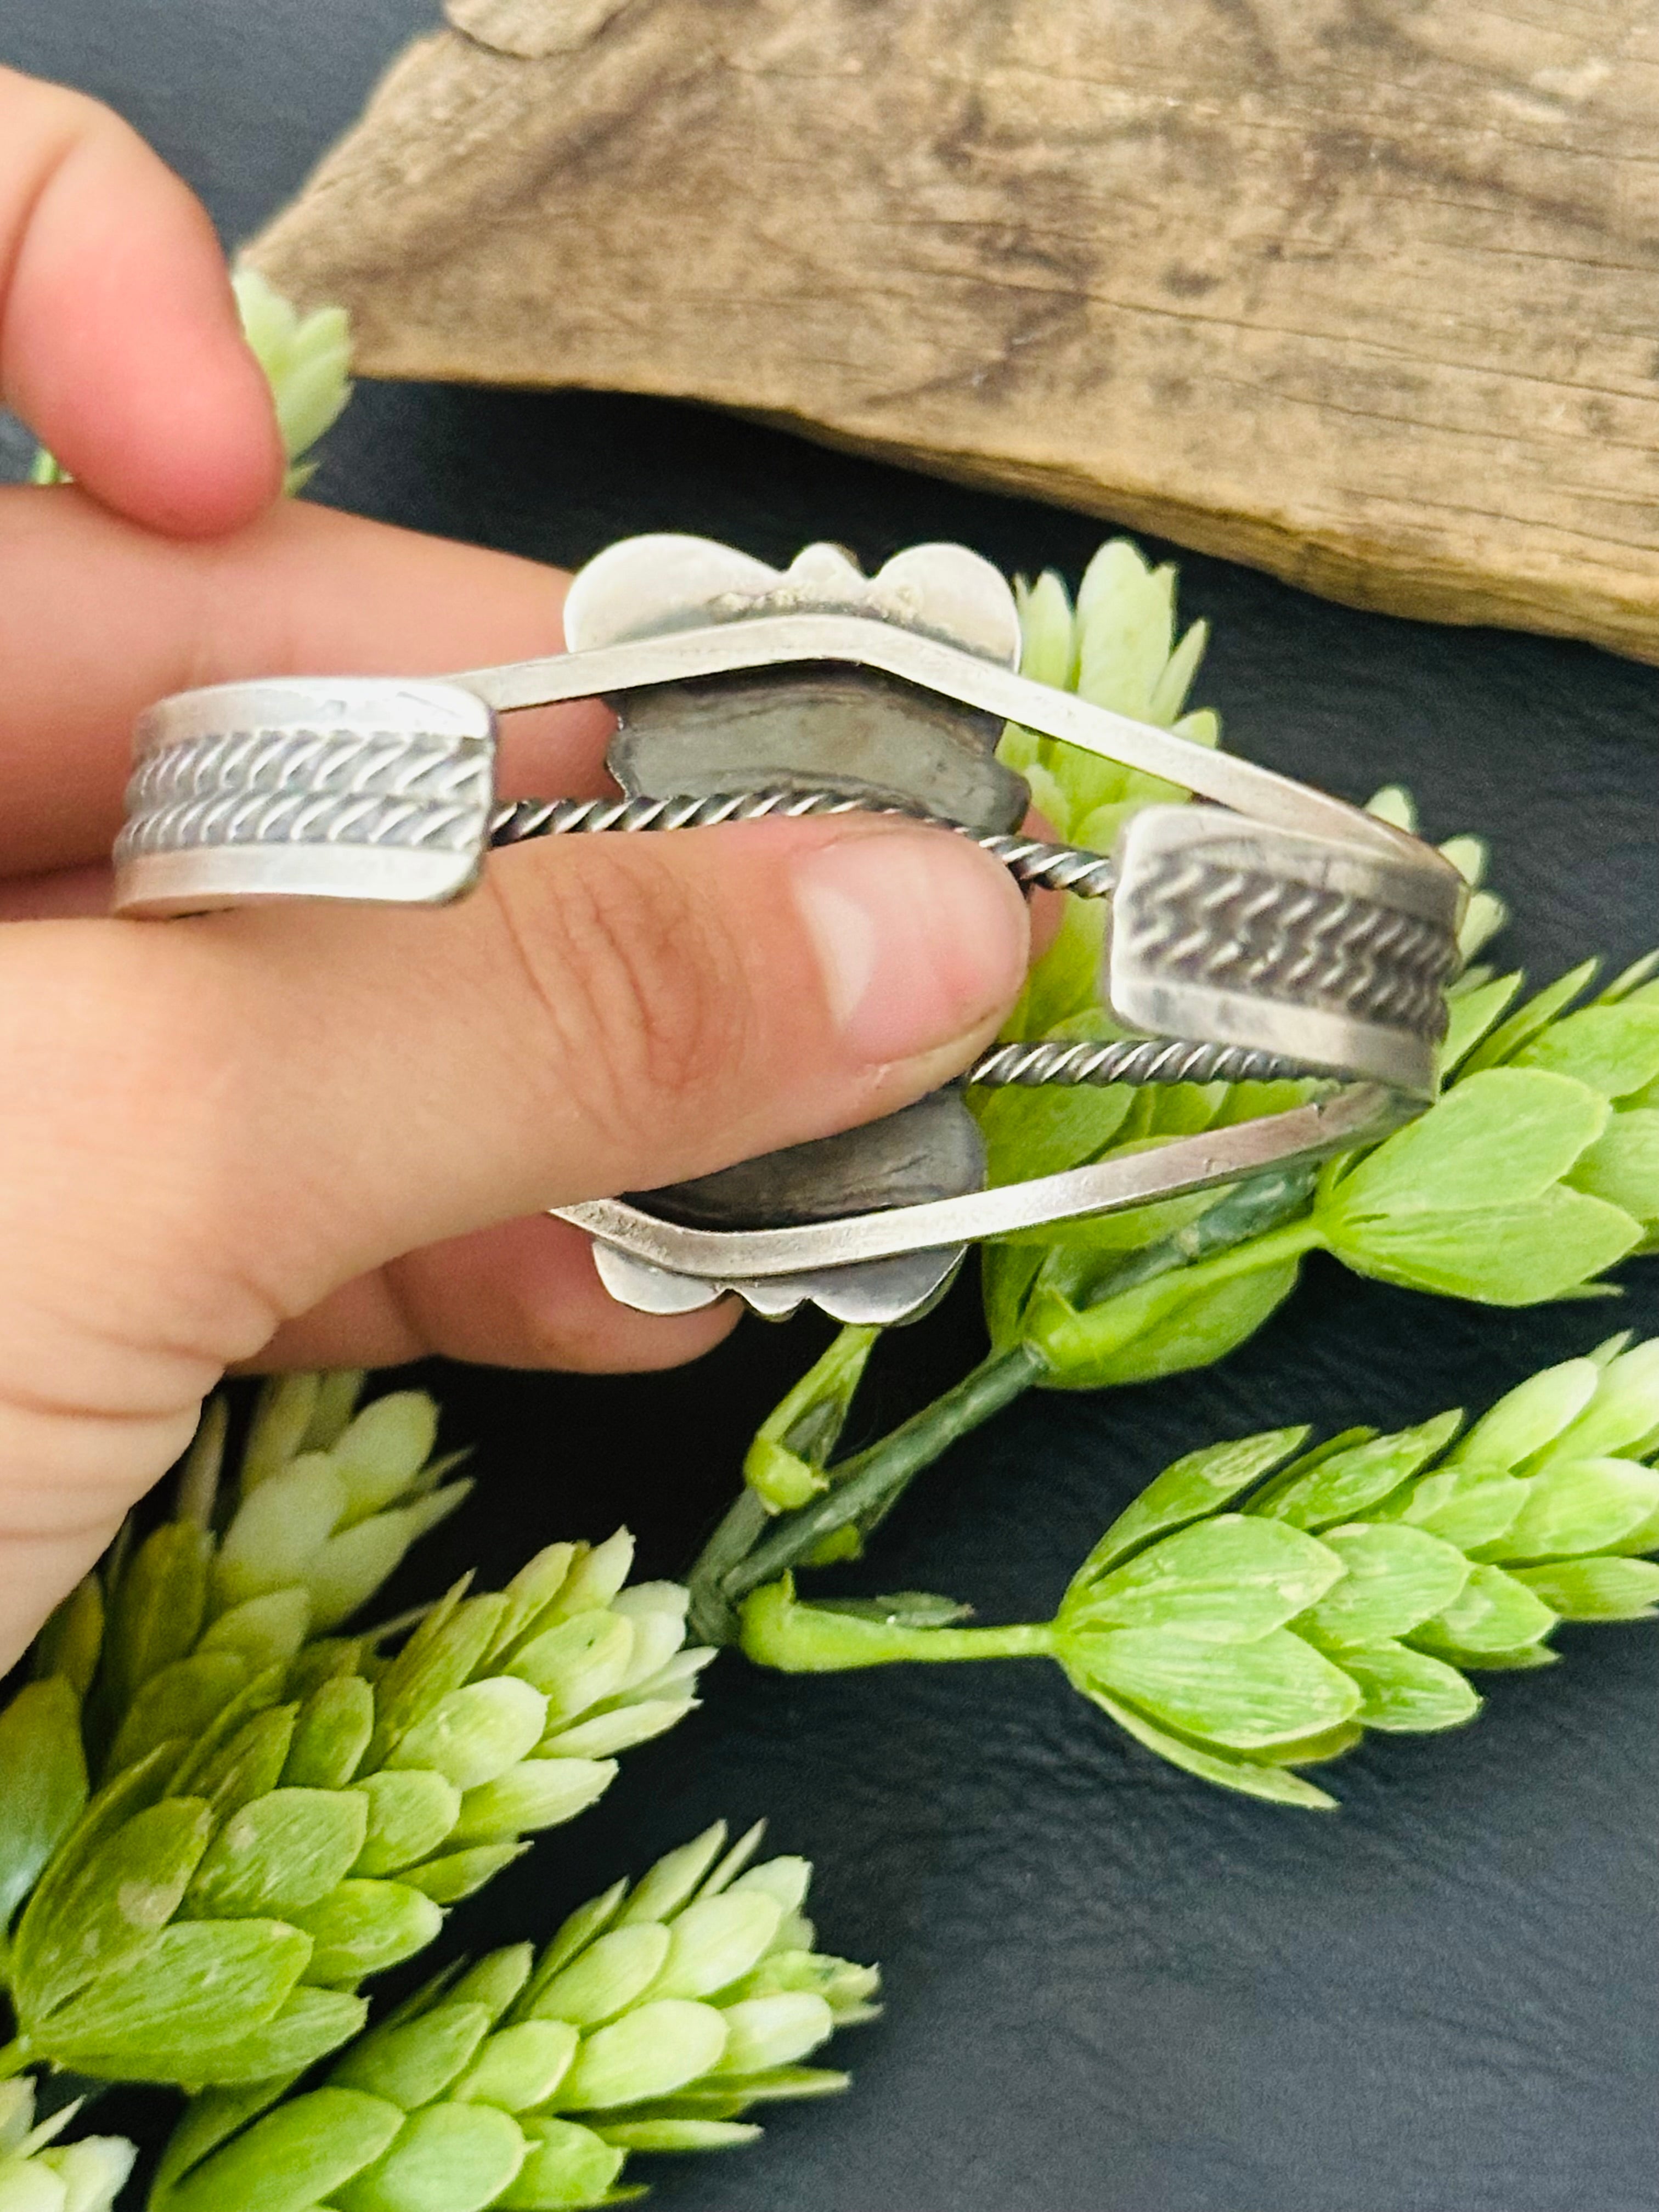
<path fill-rule="evenodd" d="M 1460 1427 L 1194 1451 L 1113 1522 L 1051 1621 L 967 1628 L 918 1593 L 807 1606 L 785 1575 L 748 1597 L 743 1648 L 792 1672 L 1046 1657 L 1175 1765 L 1327 1807 L 1296 1767 L 1369 1728 L 1469 1721 L 1469 1672 L 1548 1666 L 1559 1621 L 1659 1601 L 1659 1340 L 1615 1338 Z"/>

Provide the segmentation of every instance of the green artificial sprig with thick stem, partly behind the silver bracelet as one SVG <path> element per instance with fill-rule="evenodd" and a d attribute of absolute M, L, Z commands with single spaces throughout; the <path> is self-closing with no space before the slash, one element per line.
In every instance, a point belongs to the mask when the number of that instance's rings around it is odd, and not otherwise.
<path fill-rule="evenodd" d="M 1117 542 L 1077 606 L 1048 575 L 1022 591 L 1026 672 L 1172 721 L 1201 630 L 1177 641 L 1172 571 Z M 1214 717 L 1172 726 L 1217 741 Z M 1066 836 L 1110 843 L 1126 812 L 1181 799 L 1133 770 L 1013 730 L 1004 752 Z M 1371 801 L 1413 827 L 1398 790 Z M 1504 909 L 1484 847 L 1442 852 L 1471 885 L 1473 958 Z M 1115 1035 L 1099 1000 L 1104 911 L 1068 900 L 1009 1035 Z M 1469 967 L 1451 995 L 1447 1093 L 1413 1126 L 1327 1166 L 1283 1168 L 1093 1221 L 1029 1230 L 982 1254 L 991 1349 L 889 1436 L 834 1462 L 869 1332 L 843 1332 L 763 1425 L 745 1489 L 692 1568 L 699 1635 L 730 1641 L 743 1597 L 856 1551 L 907 1484 L 1022 1391 L 1104 1389 L 1210 1365 L 1267 1321 L 1310 1252 L 1440 1296 L 1531 1305 L 1582 1296 L 1659 1237 L 1659 982 L 1637 962 L 1593 1004 L 1595 962 L 1517 1004 L 1524 978 Z M 1303 1102 L 1298 1084 L 1006 1088 L 975 1102 L 993 1183 L 1223 1128 Z"/>

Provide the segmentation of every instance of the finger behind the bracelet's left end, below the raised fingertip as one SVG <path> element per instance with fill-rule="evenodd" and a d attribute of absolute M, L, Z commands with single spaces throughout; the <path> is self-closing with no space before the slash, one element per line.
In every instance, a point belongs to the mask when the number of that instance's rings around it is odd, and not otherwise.
<path fill-rule="evenodd" d="M 0 491 L 0 876 L 108 856 L 133 721 L 197 684 L 440 675 L 557 653 L 568 577 L 281 500 L 234 538 L 153 538 L 64 491 Z M 515 790 L 604 790 L 611 714 L 513 714 Z M 42 911 L 33 905 L 31 911 Z"/>

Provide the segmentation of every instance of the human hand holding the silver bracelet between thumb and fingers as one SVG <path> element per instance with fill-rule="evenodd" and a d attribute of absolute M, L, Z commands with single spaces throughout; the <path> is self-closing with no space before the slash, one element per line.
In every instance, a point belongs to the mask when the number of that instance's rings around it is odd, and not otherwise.
<path fill-rule="evenodd" d="M 135 712 L 248 675 L 560 646 L 564 577 L 276 502 L 201 208 L 0 71 L 0 389 L 75 476 L 0 491 L 0 1666 L 234 1365 L 655 1367 L 549 1206 L 701 1175 L 962 1068 L 1026 962 L 973 845 L 891 821 L 573 838 L 449 909 L 95 918 Z M 593 703 L 511 792 L 604 790 Z"/>

